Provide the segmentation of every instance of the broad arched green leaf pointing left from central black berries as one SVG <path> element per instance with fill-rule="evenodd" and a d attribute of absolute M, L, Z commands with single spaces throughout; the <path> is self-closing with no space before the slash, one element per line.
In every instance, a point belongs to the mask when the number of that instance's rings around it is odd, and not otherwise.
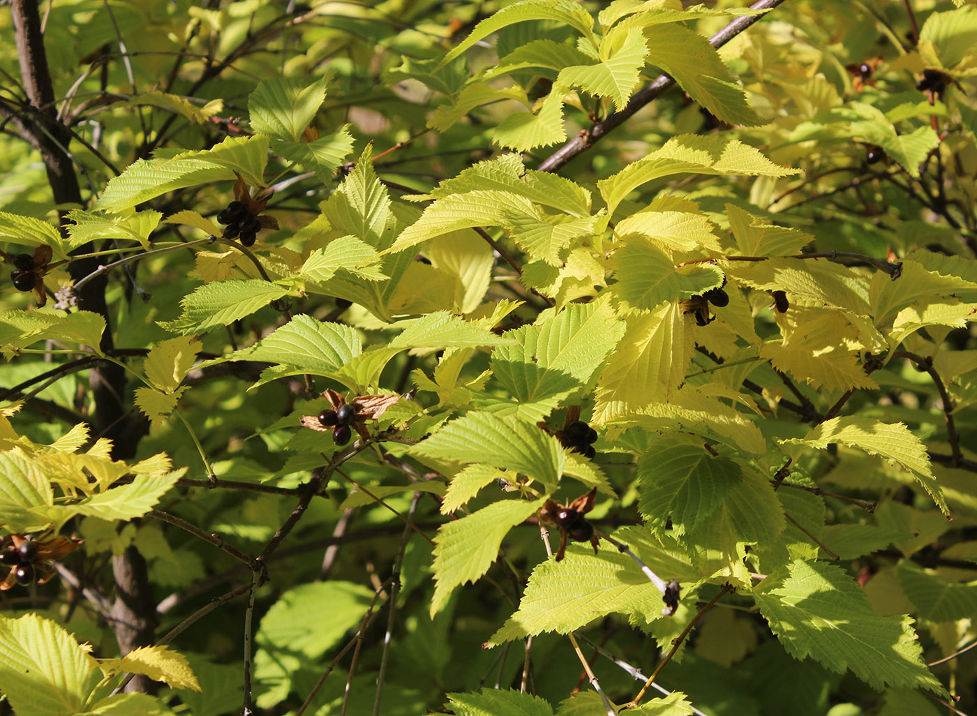
<path fill-rule="evenodd" d="M 515 470 L 551 487 L 560 479 L 563 449 L 528 420 L 515 415 L 470 412 L 447 423 L 409 452 L 468 465 L 482 462 Z"/>

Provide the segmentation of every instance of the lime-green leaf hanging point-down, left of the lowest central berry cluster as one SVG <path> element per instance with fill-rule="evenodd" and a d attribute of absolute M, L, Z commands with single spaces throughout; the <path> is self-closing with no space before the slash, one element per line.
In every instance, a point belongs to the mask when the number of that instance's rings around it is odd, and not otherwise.
<path fill-rule="evenodd" d="M 532 502 L 499 500 L 438 528 L 434 538 L 436 585 L 431 598 L 432 618 L 445 606 L 455 587 L 474 582 L 486 573 L 509 529 L 522 524 L 543 502 L 544 498 Z"/>

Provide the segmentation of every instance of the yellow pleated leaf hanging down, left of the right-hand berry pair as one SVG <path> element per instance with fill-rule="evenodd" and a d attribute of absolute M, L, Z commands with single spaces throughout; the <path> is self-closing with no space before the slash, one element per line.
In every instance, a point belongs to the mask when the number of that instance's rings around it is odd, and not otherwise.
<path fill-rule="evenodd" d="M 695 347 L 690 319 L 678 304 L 663 304 L 624 320 L 624 335 L 597 382 L 594 417 L 598 422 L 667 400 L 685 381 Z"/>

